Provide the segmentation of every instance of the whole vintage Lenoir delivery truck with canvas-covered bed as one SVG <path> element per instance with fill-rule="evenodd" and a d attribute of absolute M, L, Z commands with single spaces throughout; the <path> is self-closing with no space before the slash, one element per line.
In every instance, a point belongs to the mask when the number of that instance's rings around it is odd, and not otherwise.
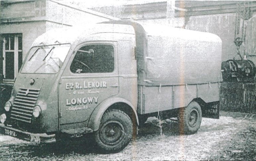
<path fill-rule="evenodd" d="M 130 21 L 48 31 L 1 107 L 0 132 L 37 143 L 93 133 L 105 152 L 126 147 L 149 116 L 196 133 L 202 117 L 219 118 L 221 54 L 214 34 Z"/>

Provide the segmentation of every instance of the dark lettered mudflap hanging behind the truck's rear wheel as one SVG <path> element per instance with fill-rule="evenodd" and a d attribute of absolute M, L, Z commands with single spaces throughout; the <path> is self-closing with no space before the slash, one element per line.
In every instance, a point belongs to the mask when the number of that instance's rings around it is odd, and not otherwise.
<path fill-rule="evenodd" d="M 201 110 L 202 117 L 220 119 L 220 101 L 205 103 Z"/>

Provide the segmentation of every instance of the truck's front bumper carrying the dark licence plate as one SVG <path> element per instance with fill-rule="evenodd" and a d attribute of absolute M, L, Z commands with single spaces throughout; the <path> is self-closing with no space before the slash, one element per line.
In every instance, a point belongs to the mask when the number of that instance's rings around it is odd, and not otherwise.
<path fill-rule="evenodd" d="M 13 136 L 22 140 L 34 142 L 34 143 L 54 143 L 56 142 L 55 134 L 33 134 L 24 132 L 11 127 L 7 127 L 4 124 L 0 124 L 0 134 Z"/>

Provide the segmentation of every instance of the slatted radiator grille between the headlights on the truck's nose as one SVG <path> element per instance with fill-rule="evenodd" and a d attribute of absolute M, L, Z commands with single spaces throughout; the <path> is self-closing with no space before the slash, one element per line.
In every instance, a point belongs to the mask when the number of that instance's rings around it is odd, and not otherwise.
<path fill-rule="evenodd" d="M 31 123 L 33 108 L 39 91 L 39 89 L 20 88 L 14 99 L 11 119 Z"/>

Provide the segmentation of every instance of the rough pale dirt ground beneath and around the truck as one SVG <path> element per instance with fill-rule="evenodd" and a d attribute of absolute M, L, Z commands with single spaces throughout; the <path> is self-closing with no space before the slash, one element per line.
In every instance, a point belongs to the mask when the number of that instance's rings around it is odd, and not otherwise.
<path fill-rule="evenodd" d="M 98 154 L 91 135 L 50 145 L 0 135 L 0 160 L 256 160 L 255 114 L 221 112 L 192 135 L 178 135 L 176 123 L 162 130 L 146 125 L 116 154 Z"/>

